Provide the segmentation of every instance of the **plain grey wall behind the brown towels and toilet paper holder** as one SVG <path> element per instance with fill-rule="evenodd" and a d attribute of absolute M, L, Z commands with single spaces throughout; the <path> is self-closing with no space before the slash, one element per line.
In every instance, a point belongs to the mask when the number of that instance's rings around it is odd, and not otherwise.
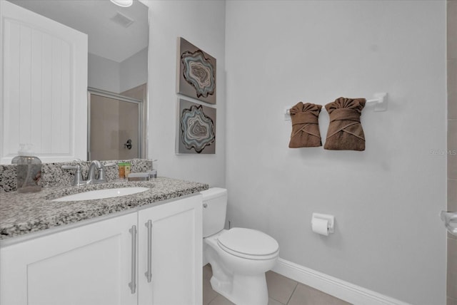
<path fill-rule="evenodd" d="M 445 10 L 226 1 L 232 226 L 271 234 L 280 257 L 304 267 L 411 304 L 446 303 L 446 156 L 431 153 L 446 150 Z M 363 110 L 366 151 L 288 148 L 286 106 L 383 91 L 386 113 Z M 320 128 L 325 140 L 326 113 Z M 311 232 L 312 212 L 334 214 L 336 232 Z"/>

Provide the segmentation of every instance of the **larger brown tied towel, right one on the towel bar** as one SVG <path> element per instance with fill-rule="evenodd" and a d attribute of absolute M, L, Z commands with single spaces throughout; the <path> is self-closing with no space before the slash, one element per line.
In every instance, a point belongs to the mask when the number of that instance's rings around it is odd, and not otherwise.
<path fill-rule="evenodd" d="M 365 98 L 337 98 L 326 105 L 330 124 L 324 149 L 365 150 L 365 135 L 360 123 L 365 103 Z"/>

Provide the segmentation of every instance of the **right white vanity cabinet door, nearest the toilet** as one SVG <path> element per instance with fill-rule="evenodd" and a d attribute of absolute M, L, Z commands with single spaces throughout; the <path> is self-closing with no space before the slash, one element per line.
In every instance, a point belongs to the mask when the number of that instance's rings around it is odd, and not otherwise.
<path fill-rule="evenodd" d="M 196 195 L 139 211 L 139 304 L 202 303 L 201 210 Z"/>

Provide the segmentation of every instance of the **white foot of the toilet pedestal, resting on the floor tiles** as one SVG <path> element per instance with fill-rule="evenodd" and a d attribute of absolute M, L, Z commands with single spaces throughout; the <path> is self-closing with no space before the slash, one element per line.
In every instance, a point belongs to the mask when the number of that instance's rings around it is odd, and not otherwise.
<path fill-rule="evenodd" d="M 211 277 L 211 287 L 236 305 L 267 305 L 268 289 L 265 273 L 256 275 L 233 274 L 231 281 Z"/>

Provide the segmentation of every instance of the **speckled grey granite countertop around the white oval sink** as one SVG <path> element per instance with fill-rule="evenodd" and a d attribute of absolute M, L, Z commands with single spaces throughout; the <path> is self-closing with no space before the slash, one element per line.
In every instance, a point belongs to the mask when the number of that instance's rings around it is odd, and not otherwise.
<path fill-rule="evenodd" d="M 150 190 L 134 195 L 99 200 L 54 202 L 53 199 L 89 190 L 116 187 L 150 187 Z M 154 181 L 127 182 L 114 180 L 101 185 L 81 187 L 44 187 L 41 192 L 0 192 L 0 239 L 18 237 L 64 224 L 72 224 L 115 212 L 150 205 L 201 190 L 208 185 L 199 182 L 158 177 Z"/>

